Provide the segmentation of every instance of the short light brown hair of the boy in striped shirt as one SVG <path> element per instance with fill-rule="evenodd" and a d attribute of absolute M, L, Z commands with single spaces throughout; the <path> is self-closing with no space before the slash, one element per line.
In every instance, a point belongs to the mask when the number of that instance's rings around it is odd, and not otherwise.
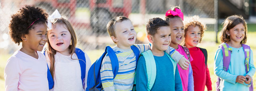
<path fill-rule="evenodd" d="M 127 18 L 127 17 L 124 17 L 124 16 L 118 16 L 118 17 L 112 18 L 108 22 L 108 24 L 107 24 L 107 31 L 108 31 L 108 34 L 109 34 L 110 37 L 111 36 L 116 37 L 116 34 L 115 34 L 115 24 L 116 24 L 116 22 L 122 22 L 124 20 L 130 20 L 130 19 Z M 113 41 L 113 42 L 116 44 L 115 41 Z"/>

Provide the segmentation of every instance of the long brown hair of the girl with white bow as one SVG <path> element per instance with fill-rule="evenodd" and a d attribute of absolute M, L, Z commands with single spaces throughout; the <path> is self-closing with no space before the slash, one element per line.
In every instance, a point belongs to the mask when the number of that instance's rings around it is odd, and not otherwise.
<path fill-rule="evenodd" d="M 56 27 L 57 24 L 62 24 L 70 32 L 70 34 L 71 34 L 71 43 L 68 46 L 68 49 L 69 49 L 69 53 L 71 54 L 71 59 L 72 59 L 72 55 L 75 53 L 76 43 L 77 43 L 76 33 L 75 33 L 72 25 L 68 22 L 68 19 L 64 16 L 62 16 L 61 18 L 56 18 L 56 19 L 52 20 L 50 23 L 52 23 L 53 27 Z M 50 72 L 51 72 L 52 77 L 53 77 L 53 75 L 54 75 L 54 63 L 55 63 L 54 55 L 56 54 L 56 50 L 54 50 L 52 48 L 49 40 L 47 41 L 47 44 L 48 44 L 48 46 L 46 48 L 46 51 L 47 51 L 48 57 L 50 59 L 50 63 L 51 63 Z"/>

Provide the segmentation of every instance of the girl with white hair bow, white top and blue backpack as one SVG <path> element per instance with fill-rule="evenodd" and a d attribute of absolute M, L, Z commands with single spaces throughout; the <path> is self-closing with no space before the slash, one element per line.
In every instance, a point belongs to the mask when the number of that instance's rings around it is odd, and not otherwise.
<path fill-rule="evenodd" d="M 91 60 L 76 48 L 76 34 L 67 18 L 55 10 L 48 18 L 48 41 L 45 56 L 50 91 L 84 91 Z M 54 85 L 50 86 L 51 77 Z"/>

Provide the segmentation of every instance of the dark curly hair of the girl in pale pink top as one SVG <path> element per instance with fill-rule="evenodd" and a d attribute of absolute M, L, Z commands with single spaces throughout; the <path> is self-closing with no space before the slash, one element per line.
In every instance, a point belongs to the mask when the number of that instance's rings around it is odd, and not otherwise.
<path fill-rule="evenodd" d="M 9 24 L 9 34 L 12 40 L 20 45 L 20 42 L 22 42 L 21 36 L 28 34 L 29 30 L 35 28 L 36 24 L 47 24 L 47 18 L 48 13 L 42 8 L 28 5 L 22 7 L 16 14 L 12 15 Z M 34 24 L 32 24 L 33 22 Z"/>

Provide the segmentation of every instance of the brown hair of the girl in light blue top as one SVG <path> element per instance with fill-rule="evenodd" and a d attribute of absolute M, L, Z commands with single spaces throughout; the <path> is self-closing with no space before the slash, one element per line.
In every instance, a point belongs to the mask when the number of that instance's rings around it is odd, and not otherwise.
<path fill-rule="evenodd" d="M 242 16 L 237 15 L 227 17 L 222 23 L 223 28 L 220 33 L 220 41 L 228 43 L 230 41 L 230 37 L 226 34 L 226 32 L 240 23 L 243 24 L 245 28 L 245 36 L 244 39 L 240 42 L 240 44 L 245 44 L 247 41 L 247 23 Z"/>

